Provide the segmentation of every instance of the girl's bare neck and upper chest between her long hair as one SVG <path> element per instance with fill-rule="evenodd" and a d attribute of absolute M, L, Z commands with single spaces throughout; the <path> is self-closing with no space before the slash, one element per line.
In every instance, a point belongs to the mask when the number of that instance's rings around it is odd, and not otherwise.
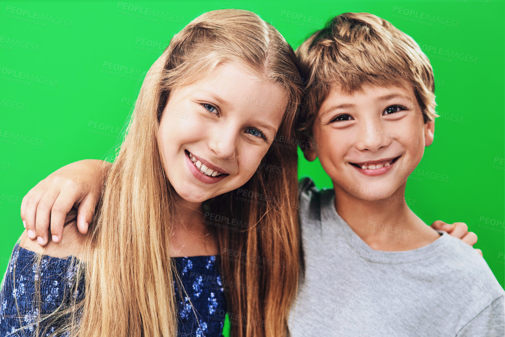
<path fill-rule="evenodd" d="M 174 226 L 170 237 L 170 256 L 219 255 L 215 231 L 204 221 L 202 203 L 180 200 L 183 221 Z"/>

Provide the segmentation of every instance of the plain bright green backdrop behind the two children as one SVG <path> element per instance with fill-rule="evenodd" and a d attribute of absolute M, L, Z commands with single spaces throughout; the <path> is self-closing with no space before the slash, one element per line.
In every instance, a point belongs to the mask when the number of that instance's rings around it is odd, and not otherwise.
<path fill-rule="evenodd" d="M 169 20 L 121 4 L 163 11 Z M 12 8 L 22 11 L 12 14 Z M 411 35 L 431 60 L 442 117 L 433 145 L 409 178 L 407 198 L 416 201 L 412 209 L 426 223 L 466 222 L 504 285 L 505 15 L 503 1 L 495 0 L 0 3 L 2 275 L 23 231 L 19 213 L 26 192 L 68 163 L 112 160 L 145 72 L 189 21 L 223 8 L 254 11 L 293 48 L 344 12 L 373 13 Z M 331 187 L 319 162 L 300 157 L 299 164 L 300 176 Z"/>

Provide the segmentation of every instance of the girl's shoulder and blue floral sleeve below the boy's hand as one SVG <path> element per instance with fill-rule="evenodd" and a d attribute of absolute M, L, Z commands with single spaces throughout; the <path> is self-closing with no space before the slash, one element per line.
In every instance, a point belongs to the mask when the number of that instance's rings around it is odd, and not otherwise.
<path fill-rule="evenodd" d="M 75 240 L 66 243 L 75 243 Z M 84 274 L 80 272 L 84 269 L 79 268 L 78 260 L 70 258 L 76 255 L 76 247 L 48 245 L 38 246 L 26 236 L 25 230 L 21 243 L 14 246 L 0 288 L 0 336 L 31 335 L 42 315 L 84 299 Z M 65 323 L 59 319 L 55 316 L 44 320 L 40 328 L 53 331 Z"/>

